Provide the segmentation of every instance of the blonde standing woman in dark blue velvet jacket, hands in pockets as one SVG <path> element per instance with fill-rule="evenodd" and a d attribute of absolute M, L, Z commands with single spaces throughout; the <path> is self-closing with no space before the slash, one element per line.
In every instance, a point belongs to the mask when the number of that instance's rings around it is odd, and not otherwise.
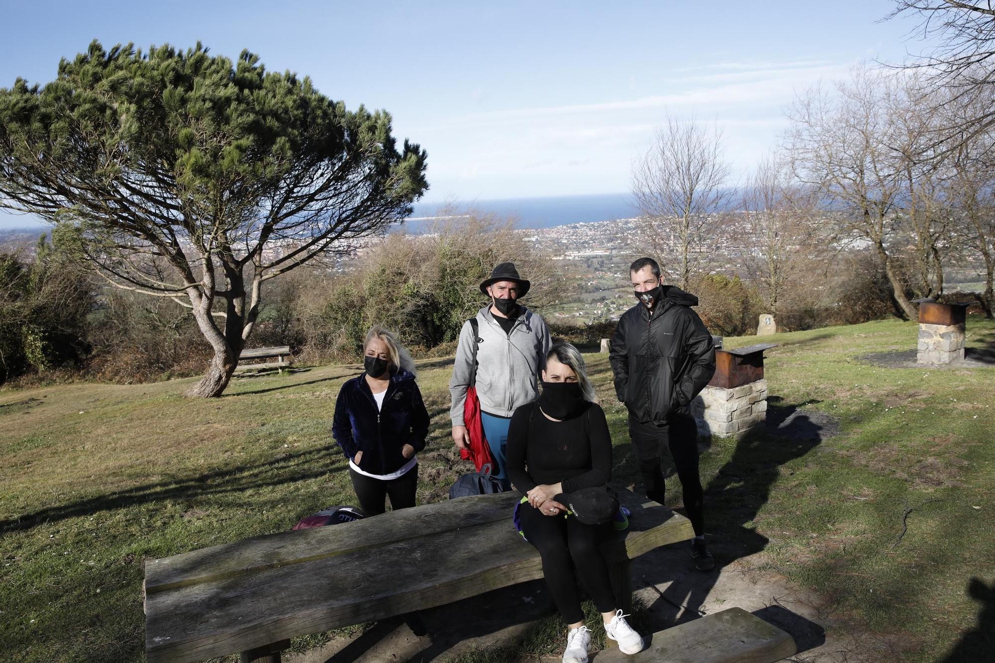
<path fill-rule="evenodd" d="M 367 515 L 415 506 L 416 453 L 425 448 L 429 413 L 414 362 L 394 334 L 379 327 L 363 342 L 364 372 L 338 392 L 331 434 L 349 459 L 349 477 Z"/>

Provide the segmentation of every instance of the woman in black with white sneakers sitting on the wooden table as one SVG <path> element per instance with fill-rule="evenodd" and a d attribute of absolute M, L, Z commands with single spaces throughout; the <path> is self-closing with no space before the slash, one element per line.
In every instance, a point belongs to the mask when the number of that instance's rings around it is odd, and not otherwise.
<path fill-rule="evenodd" d="M 625 654 L 643 648 L 612 592 L 599 549 L 611 522 L 585 525 L 553 498 L 604 486 L 611 478 L 612 440 L 576 347 L 557 342 L 546 354 L 538 400 L 514 411 L 507 433 L 507 474 L 528 502 L 520 505 L 521 533 L 542 557 L 542 572 L 560 614 L 569 623 L 564 663 L 586 663 L 590 629 L 584 625 L 574 567 L 604 618 L 608 637 Z"/>

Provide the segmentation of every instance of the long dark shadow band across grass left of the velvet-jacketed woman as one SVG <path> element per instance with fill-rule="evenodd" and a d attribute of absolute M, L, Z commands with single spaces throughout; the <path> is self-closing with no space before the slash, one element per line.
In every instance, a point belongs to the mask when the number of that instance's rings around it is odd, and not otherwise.
<path fill-rule="evenodd" d="M 29 530 L 42 523 L 92 516 L 101 511 L 127 509 L 163 500 L 192 500 L 208 495 L 239 493 L 254 488 L 280 486 L 325 476 L 342 462 L 337 447 L 289 453 L 279 460 L 247 467 L 227 467 L 193 477 L 136 486 L 111 495 L 42 509 L 16 519 L 0 521 L 0 534 Z"/>

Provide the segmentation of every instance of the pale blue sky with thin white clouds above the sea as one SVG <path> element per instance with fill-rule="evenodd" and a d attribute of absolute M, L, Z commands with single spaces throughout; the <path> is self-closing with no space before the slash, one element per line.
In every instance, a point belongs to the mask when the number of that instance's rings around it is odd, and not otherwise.
<path fill-rule="evenodd" d="M 105 47 L 202 41 L 389 110 L 429 153 L 427 201 L 614 193 L 665 113 L 715 119 L 740 173 L 777 142 L 795 91 L 899 60 L 891 0 L 836 2 L 17 2 L 0 87 Z M 0 213 L 2 214 L 2 213 Z M 0 216 L 0 227 L 24 225 Z"/>

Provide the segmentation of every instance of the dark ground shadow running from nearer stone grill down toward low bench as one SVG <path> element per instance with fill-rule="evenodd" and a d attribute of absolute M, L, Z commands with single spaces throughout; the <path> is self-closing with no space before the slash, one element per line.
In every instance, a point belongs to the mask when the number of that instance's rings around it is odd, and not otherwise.
<path fill-rule="evenodd" d="M 704 614 L 701 608 L 722 566 L 766 548 L 767 538 L 756 532 L 752 522 L 767 503 L 779 468 L 805 456 L 836 432 L 828 418 L 799 409 L 811 402 L 817 401 L 770 407 L 766 430 L 752 431 L 738 440 L 732 456 L 704 487 L 705 528 L 712 535 L 709 548 L 715 555 L 716 570 L 676 572 L 658 567 L 645 574 L 655 585 L 670 582 L 659 600 L 683 608 L 678 621 Z M 676 616 L 670 609 L 664 612 Z"/>

